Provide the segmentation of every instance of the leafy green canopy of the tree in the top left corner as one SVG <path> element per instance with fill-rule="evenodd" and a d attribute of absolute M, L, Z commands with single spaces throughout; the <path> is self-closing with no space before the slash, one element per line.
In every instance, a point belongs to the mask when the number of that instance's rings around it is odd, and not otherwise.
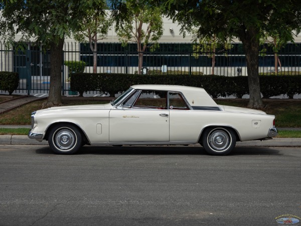
<path fill-rule="evenodd" d="M 13 41 L 21 34 L 20 41 L 34 38 L 36 42 L 48 45 L 59 43 L 71 32 L 80 29 L 80 21 L 88 10 L 102 6 L 101 0 L 3 1 L 0 34 L 3 39 Z"/>

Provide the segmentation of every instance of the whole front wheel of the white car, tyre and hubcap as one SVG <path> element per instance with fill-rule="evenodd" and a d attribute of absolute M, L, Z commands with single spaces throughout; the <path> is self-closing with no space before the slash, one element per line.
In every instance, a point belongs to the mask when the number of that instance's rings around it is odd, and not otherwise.
<path fill-rule="evenodd" d="M 56 125 L 49 133 L 48 143 L 57 154 L 74 154 L 82 147 L 82 135 L 72 125 Z"/>

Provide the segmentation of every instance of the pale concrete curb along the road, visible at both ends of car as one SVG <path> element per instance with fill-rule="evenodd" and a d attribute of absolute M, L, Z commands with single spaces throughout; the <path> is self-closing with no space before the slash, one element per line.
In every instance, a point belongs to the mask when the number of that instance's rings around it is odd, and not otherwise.
<path fill-rule="evenodd" d="M 42 142 L 35 139 L 29 139 L 21 135 L 3 135 L 0 136 L 0 145 L 48 145 L 48 142 Z M 236 147 L 301 147 L 301 138 L 274 138 L 267 141 L 244 141 L 237 142 Z"/>

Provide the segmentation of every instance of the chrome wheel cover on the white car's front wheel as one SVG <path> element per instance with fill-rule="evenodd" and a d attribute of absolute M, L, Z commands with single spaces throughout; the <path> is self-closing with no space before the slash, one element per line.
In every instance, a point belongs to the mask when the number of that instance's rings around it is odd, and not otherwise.
<path fill-rule="evenodd" d="M 61 151 L 70 151 L 76 145 L 76 134 L 70 128 L 59 128 L 53 136 L 53 143 Z"/>

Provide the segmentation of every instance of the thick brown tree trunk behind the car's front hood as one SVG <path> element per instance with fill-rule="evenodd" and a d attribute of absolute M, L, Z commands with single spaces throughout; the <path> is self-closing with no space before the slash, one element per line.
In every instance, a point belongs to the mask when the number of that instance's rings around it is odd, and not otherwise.
<path fill-rule="evenodd" d="M 62 61 L 63 61 L 64 39 L 59 39 L 58 43 L 50 44 L 51 51 L 51 69 L 49 96 L 42 108 L 62 105 Z"/>

